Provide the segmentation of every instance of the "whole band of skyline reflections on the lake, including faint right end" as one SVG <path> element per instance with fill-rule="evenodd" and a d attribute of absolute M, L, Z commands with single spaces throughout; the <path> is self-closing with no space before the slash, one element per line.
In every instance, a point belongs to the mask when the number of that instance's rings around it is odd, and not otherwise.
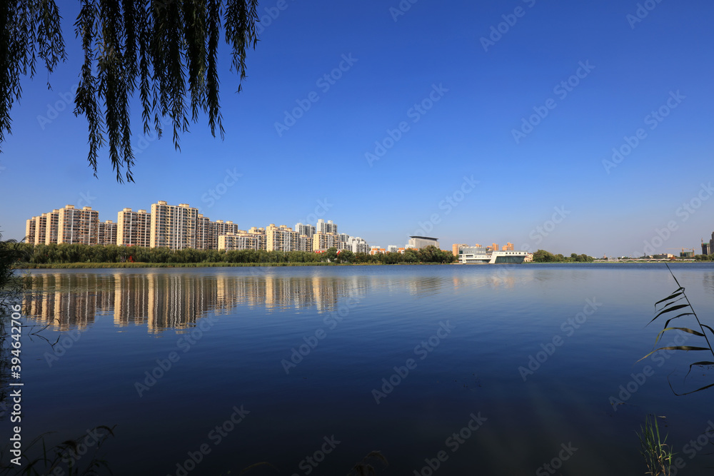
<path fill-rule="evenodd" d="M 474 268 L 476 270 L 476 268 Z M 498 272 L 497 272 L 498 271 Z M 235 273 L 36 273 L 24 296 L 24 313 L 54 330 L 83 330 L 105 315 L 116 327 L 146 326 L 150 333 L 186 329 L 213 315 L 238 315 L 241 308 L 268 313 L 315 309 L 331 313 L 346 298 L 363 300 L 368 292 L 430 298 L 446 290 L 471 292 L 490 286 L 510 290 L 537 278 L 533 270 L 503 266 L 491 273 L 413 276 L 310 275 L 251 271 Z"/>

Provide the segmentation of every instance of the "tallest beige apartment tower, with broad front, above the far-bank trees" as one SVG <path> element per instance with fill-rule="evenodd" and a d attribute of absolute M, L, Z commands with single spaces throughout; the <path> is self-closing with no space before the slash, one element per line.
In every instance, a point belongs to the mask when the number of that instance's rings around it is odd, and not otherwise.
<path fill-rule="evenodd" d="M 151 204 L 151 248 L 172 250 L 196 248 L 198 209 L 188 203 L 169 205 L 165 201 Z"/>

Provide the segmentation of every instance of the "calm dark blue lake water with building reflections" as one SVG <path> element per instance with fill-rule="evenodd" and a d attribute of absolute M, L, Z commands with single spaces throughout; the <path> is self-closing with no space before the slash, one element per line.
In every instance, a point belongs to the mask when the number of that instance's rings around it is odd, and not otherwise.
<path fill-rule="evenodd" d="M 714 266 L 673 270 L 714 325 Z M 685 447 L 714 420 L 714 388 L 668 385 L 714 383 L 682 380 L 705 355 L 635 363 L 677 287 L 664 265 L 33 274 L 24 313 L 59 343 L 23 336 L 24 438 L 116 425 L 101 454 L 117 475 L 346 475 L 372 450 L 390 463 L 378 474 L 643 474 L 648 413 L 667 417 L 680 474 L 714 465 Z"/>

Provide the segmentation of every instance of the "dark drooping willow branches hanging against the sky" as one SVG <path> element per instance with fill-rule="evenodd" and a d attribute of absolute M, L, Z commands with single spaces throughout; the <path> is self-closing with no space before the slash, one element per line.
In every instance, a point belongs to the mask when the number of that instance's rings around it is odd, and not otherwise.
<path fill-rule="evenodd" d="M 0 141 L 10 131 L 9 111 L 20 96 L 19 76 L 34 73 L 36 52 L 52 71 L 65 58 L 54 0 L 5 2 L 7 16 L 0 61 L 6 61 Z M 99 150 L 109 146 L 116 180 L 134 181 L 130 102 L 138 88 L 144 133 L 163 134 L 170 122 L 174 146 L 202 111 L 211 133 L 224 136 L 218 99 L 221 18 L 231 45 L 231 71 L 246 77 L 246 53 L 258 41 L 258 0 L 79 0 L 74 24 L 84 49 L 76 91 L 76 116 L 89 123 L 88 160 L 96 176 Z M 7 73 L 5 73 L 7 71 Z M 188 97 L 187 97 L 188 96 Z M 190 101 L 190 106 L 187 102 Z"/>

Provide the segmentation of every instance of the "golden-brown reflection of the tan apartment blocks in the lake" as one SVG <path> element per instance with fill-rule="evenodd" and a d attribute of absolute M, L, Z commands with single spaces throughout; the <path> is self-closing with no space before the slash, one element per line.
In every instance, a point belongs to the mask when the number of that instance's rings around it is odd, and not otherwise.
<path fill-rule="evenodd" d="M 23 308 L 29 318 L 54 330 L 83 330 L 99 316 L 111 315 L 116 327 L 146 325 L 159 333 L 190 328 L 207 313 L 231 315 L 242 306 L 327 313 L 342 298 L 366 294 L 368 286 L 363 277 L 38 273 Z"/>

